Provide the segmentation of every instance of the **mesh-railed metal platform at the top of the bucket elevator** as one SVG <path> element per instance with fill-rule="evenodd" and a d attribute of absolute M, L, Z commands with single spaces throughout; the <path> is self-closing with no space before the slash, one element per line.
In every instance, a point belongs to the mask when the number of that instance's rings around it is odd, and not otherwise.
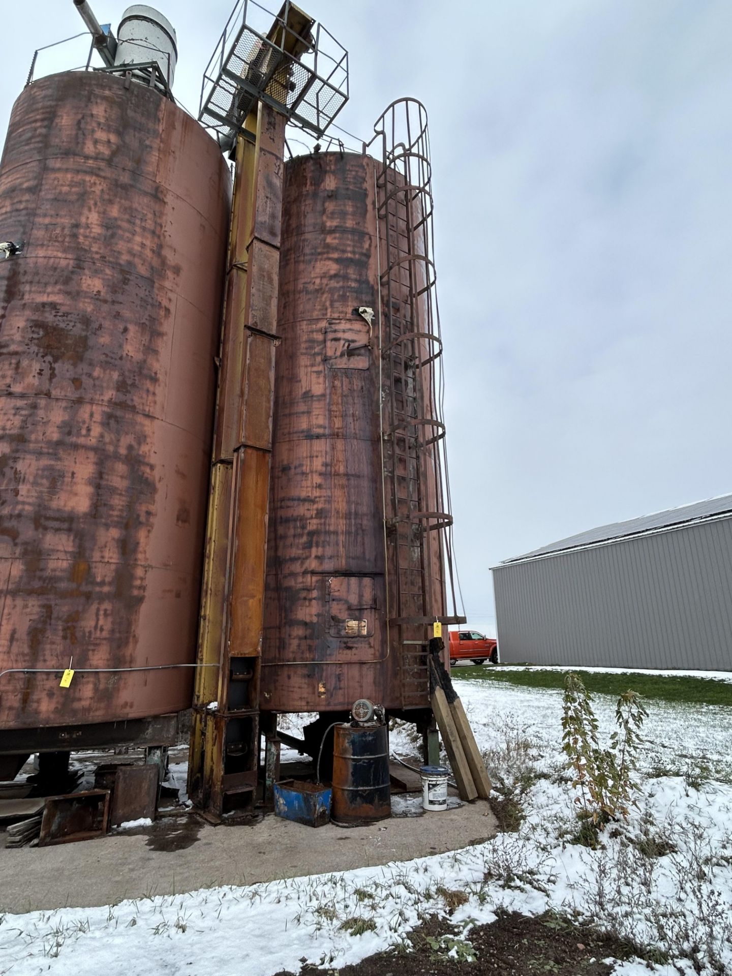
<path fill-rule="evenodd" d="M 274 15 L 255 0 L 238 0 L 204 72 L 198 118 L 229 136 L 257 101 L 317 137 L 348 101 L 346 49 L 289 2 Z"/>

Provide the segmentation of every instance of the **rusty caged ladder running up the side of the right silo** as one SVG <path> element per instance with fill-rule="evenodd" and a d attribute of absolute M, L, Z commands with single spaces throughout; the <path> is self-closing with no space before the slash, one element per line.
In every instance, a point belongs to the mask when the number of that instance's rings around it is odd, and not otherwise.
<path fill-rule="evenodd" d="M 409 98 L 392 102 L 374 131 L 364 151 L 381 142 L 381 427 L 387 592 L 395 597 L 388 623 L 401 645 L 403 704 L 409 707 L 428 685 L 430 625 L 465 617 L 458 615 L 455 590 L 425 106 Z"/>

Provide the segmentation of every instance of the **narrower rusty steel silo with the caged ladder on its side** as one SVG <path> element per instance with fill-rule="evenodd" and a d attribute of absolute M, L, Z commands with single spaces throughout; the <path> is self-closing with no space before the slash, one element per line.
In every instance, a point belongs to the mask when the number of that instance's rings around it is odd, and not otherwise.
<path fill-rule="evenodd" d="M 387 128 L 383 158 L 285 167 L 264 711 L 427 710 L 432 625 L 457 619 L 426 118 L 407 142 Z"/>

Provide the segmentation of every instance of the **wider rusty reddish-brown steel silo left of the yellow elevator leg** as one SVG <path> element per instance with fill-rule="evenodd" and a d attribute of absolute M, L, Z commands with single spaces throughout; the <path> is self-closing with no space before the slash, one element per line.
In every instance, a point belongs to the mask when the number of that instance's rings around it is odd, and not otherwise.
<path fill-rule="evenodd" d="M 190 703 L 192 668 L 142 669 L 195 660 L 228 210 L 217 143 L 157 92 L 68 72 L 16 102 L 0 671 L 31 672 L 0 677 L 0 730 Z M 68 688 L 32 672 L 70 662 Z"/>

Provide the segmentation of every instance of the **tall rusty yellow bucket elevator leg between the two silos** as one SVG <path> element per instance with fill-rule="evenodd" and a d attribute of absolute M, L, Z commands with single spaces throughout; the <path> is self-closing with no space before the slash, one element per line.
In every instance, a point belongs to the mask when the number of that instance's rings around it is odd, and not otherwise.
<path fill-rule="evenodd" d="M 259 766 L 285 116 L 237 137 L 188 793 L 218 820 L 254 805 Z"/>

